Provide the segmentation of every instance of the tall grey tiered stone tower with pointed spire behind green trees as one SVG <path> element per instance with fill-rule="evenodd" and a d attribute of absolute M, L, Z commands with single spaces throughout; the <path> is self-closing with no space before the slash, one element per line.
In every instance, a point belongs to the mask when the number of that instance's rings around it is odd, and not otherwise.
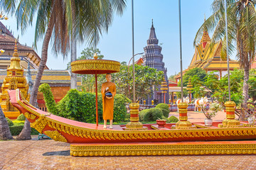
<path fill-rule="evenodd" d="M 164 67 L 163 55 L 161 54 L 162 48 L 158 45 L 159 40 L 156 38 L 153 20 L 150 29 L 149 40 L 147 40 L 146 42 L 147 45 L 146 47 L 144 47 L 144 55 L 142 56 L 142 60 L 138 60 L 137 63 L 140 64 L 142 62 L 142 66 L 149 66 L 157 69 L 158 71 L 163 71 L 167 88 L 169 88 L 167 69 Z M 162 93 L 161 86 L 158 86 L 158 90 L 156 90 L 156 87 L 154 87 L 154 89 L 154 93 L 146 100 L 147 104 L 151 104 L 151 100 L 154 99 L 158 100 L 158 103 L 169 103 L 169 95 Z"/>

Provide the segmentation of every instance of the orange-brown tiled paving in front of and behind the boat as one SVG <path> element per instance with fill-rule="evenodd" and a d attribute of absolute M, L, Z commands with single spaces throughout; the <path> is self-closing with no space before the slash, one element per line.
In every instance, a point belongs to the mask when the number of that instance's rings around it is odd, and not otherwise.
<path fill-rule="evenodd" d="M 202 122 L 202 114 L 189 112 L 188 118 Z M 225 114 L 215 120 L 219 118 Z M 27 141 L 0 141 L 0 169 L 256 169 L 256 156 L 70 157 L 69 144 L 33 136 Z"/>

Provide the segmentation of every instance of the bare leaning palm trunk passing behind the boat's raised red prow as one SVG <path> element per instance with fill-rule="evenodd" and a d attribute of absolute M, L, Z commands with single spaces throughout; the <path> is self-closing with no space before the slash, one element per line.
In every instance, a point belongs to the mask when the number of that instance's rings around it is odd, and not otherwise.
<path fill-rule="evenodd" d="M 42 47 L 42 55 L 41 55 L 41 62 L 38 68 L 38 73 L 36 74 L 36 80 L 33 84 L 33 88 L 31 91 L 31 98 L 29 102 L 35 106 L 36 104 L 36 98 L 38 94 L 38 88 L 40 86 L 41 78 L 43 76 L 43 70 L 46 67 L 46 62 L 47 62 L 47 52 L 48 52 L 48 45 L 50 42 L 50 36 L 52 34 L 53 27 L 50 24 L 50 21 L 48 23 L 48 27 L 46 30 L 46 35 L 43 40 L 43 47 Z M 26 119 L 24 127 L 21 131 L 21 133 L 18 135 L 16 140 L 31 140 L 31 126 L 29 121 Z"/>

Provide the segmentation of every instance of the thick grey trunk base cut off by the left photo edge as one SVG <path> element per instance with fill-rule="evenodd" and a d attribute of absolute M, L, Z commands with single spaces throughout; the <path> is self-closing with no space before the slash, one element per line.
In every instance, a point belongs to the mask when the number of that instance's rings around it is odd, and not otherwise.
<path fill-rule="evenodd" d="M 0 107 L 0 140 L 13 140 L 11 136 L 8 122 L 4 116 L 4 113 Z"/>

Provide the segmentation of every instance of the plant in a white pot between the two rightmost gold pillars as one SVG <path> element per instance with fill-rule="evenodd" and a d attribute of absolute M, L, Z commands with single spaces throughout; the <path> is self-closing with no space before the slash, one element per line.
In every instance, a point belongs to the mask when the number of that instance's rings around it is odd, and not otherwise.
<path fill-rule="evenodd" d="M 220 111 L 222 109 L 222 106 L 220 105 L 220 103 L 211 103 L 210 104 L 210 109 L 207 111 L 206 106 L 208 104 L 203 104 L 201 105 L 203 114 L 206 115 L 206 119 L 205 119 L 205 125 L 206 126 L 210 126 L 213 125 L 213 120 L 211 118 L 213 118 L 218 111 Z"/>

